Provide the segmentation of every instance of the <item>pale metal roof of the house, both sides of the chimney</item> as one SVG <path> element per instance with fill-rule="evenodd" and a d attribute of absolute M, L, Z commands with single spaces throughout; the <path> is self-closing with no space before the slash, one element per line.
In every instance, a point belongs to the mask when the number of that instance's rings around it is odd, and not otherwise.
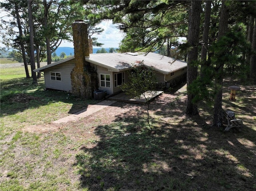
<path fill-rule="evenodd" d="M 74 56 L 68 57 L 61 61 L 46 65 L 34 71 L 42 71 L 48 67 L 64 63 Z M 181 60 L 175 60 L 167 56 L 156 53 L 102 53 L 90 54 L 85 58 L 86 61 L 107 68 L 109 71 L 120 72 L 132 68 L 143 61 L 146 67 L 152 67 L 155 71 L 163 74 L 169 74 L 187 66 L 187 63 Z"/>

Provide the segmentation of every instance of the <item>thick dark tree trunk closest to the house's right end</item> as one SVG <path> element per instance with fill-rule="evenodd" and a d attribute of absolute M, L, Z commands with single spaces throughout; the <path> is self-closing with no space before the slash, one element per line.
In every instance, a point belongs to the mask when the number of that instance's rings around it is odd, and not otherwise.
<path fill-rule="evenodd" d="M 190 51 L 188 51 L 188 67 L 187 67 L 187 87 L 197 78 L 198 75 L 198 39 L 200 26 L 201 1 L 191 1 L 191 9 L 189 12 L 188 22 L 188 43 Z M 188 90 L 188 88 L 187 88 Z M 194 93 L 189 90 L 187 98 L 186 114 L 197 115 L 198 106 L 192 102 Z"/>

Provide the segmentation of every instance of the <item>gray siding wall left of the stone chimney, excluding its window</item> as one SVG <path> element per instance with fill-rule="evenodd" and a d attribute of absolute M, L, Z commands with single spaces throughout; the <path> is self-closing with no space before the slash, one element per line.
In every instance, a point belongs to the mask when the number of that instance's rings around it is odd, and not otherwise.
<path fill-rule="evenodd" d="M 75 60 L 64 62 L 62 64 L 50 67 L 44 70 L 45 87 L 62 91 L 72 92 L 70 73 L 75 66 Z M 51 80 L 50 72 L 61 73 L 61 81 Z"/>

